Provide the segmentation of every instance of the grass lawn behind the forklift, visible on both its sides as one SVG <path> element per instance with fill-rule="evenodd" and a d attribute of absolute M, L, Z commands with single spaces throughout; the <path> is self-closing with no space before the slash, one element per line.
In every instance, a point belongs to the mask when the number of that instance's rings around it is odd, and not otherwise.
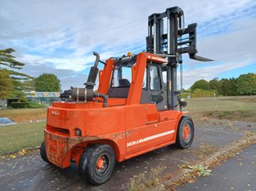
<path fill-rule="evenodd" d="M 193 118 L 213 117 L 256 122 L 256 96 L 192 98 L 187 100 L 185 111 Z M 0 117 L 8 117 L 15 122 L 46 118 L 47 108 L 5 109 Z M 20 123 L 0 126 L 0 154 L 10 151 L 40 146 L 43 140 L 45 122 Z"/>

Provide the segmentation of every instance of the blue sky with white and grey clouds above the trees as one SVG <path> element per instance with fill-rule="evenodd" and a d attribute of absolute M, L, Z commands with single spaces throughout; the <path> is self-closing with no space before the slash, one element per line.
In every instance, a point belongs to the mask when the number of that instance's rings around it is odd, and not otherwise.
<path fill-rule="evenodd" d="M 102 60 L 144 51 L 148 16 L 172 6 L 183 9 L 186 26 L 198 24 L 198 55 L 215 60 L 184 55 L 183 87 L 256 73 L 255 0 L 0 0 L 0 49 L 16 50 L 22 73 L 54 73 L 62 90 L 84 87 L 93 51 Z"/>

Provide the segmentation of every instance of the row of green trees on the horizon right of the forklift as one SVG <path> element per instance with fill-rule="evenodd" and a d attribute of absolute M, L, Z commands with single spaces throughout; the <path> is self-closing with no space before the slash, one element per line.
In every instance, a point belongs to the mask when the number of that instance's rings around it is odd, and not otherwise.
<path fill-rule="evenodd" d="M 242 74 L 238 78 L 223 78 L 217 80 L 216 78 L 207 82 L 207 80 L 197 80 L 190 87 L 193 93 L 195 90 L 215 90 L 217 94 L 223 96 L 236 95 L 256 95 L 256 74 L 247 73 Z"/>

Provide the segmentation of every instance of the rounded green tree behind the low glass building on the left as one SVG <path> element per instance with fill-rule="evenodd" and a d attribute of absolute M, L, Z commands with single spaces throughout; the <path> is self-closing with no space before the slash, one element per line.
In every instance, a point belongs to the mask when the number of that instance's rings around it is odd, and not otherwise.
<path fill-rule="evenodd" d="M 34 81 L 36 91 L 60 91 L 60 81 L 55 74 L 43 73 Z"/>

